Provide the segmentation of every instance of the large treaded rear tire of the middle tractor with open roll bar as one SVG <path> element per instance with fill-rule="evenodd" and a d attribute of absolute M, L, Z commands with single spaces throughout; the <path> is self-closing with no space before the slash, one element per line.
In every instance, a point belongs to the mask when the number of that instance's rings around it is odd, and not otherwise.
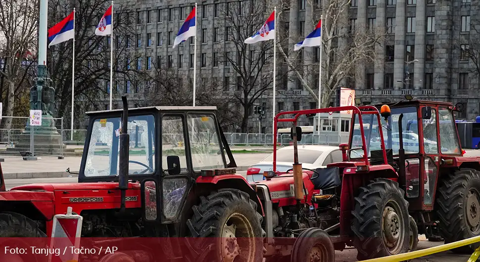
<path fill-rule="evenodd" d="M 360 187 L 359 192 L 352 212 L 353 246 L 358 251 L 357 259 L 368 260 L 408 252 L 408 202 L 403 198 L 404 191 L 398 183 L 377 178 L 366 187 Z M 386 221 L 388 223 L 384 223 Z"/>

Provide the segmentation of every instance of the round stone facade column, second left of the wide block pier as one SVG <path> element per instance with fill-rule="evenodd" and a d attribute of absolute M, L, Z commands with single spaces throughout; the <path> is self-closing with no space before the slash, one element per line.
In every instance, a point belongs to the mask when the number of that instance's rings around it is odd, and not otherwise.
<path fill-rule="evenodd" d="M 405 5 L 406 0 L 397 0 L 395 12 L 395 56 L 393 57 L 393 87 L 395 89 L 403 89 L 403 81 L 405 79 Z"/>

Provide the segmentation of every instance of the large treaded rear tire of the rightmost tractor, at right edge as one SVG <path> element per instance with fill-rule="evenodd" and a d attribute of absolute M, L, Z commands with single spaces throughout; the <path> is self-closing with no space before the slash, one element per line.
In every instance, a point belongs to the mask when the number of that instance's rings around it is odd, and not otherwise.
<path fill-rule="evenodd" d="M 441 181 L 437 194 L 440 235 L 451 243 L 480 235 L 480 172 L 461 169 Z M 480 243 L 452 250 L 472 253 Z"/>

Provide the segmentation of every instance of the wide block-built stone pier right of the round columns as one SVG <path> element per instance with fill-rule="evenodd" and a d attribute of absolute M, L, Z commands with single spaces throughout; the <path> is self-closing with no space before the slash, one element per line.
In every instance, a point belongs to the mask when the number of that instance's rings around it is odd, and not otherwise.
<path fill-rule="evenodd" d="M 435 5 L 435 42 L 433 51 L 433 86 L 447 94 L 452 73 L 452 12 L 454 0 L 439 0 Z"/>

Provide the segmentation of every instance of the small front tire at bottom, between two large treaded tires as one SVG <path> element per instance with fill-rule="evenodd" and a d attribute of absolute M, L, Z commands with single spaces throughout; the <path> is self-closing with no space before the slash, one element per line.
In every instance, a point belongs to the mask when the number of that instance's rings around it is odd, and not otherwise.
<path fill-rule="evenodd" d="M 319 228 L 303 231 L 293 244 L 290 262 L 335 262 L 335 248 L 329 234 Z"/>

